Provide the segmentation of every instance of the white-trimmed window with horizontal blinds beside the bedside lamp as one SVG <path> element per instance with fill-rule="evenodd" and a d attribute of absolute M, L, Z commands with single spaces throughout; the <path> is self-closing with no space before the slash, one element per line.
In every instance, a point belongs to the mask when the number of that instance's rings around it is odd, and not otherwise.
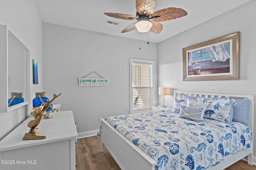
<path fill-rule="evenodd" d="M 136 59 L 130 61 L 130 113 L 149 110 L 153 105 L 153 66 L 154 61 Z"/>

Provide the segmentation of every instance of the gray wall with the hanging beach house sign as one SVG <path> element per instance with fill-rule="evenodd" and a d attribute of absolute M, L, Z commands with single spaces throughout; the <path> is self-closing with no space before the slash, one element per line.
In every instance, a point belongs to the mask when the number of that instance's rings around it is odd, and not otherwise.
<path fill-rule="evenodd" d="M 157 66 L 157 44 L 140 44 L 141 49 L 136 40 L 43 23 L 44 91 L 48 98 L 62 93 L 61 110 L 73 110 L 78 133 L 97 130 L 99 118 L 130 112 L 130 58 Z M 78 86 L 78 78 L 93 71 L 108 86 Z"/>

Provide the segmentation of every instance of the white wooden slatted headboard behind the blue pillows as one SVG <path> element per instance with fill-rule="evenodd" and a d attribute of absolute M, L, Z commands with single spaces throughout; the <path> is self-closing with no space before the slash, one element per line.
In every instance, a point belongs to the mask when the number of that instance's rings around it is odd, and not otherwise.
<path fill-rule="evenodd" d="M 194 97 L 204 97 L 204 98 L 234 98 L 234 99 L 244 99 L 248 98 L 250 101 L 250 113 L 249 113 L 249 126 L 252 130 L 252 135 L 254 135 L 254 94 L 253 93 L 231 93 L 231 92 L 198 92 L 198 91 L 186 91 L 186 90 L 174 90 L 174 98 L 181 99 L 182 95 Z M 253 150 L 253 138 L 251 138 L 251 149 Z M 248 163 L 253 163 L 253 155 L 248 156 Z"/>

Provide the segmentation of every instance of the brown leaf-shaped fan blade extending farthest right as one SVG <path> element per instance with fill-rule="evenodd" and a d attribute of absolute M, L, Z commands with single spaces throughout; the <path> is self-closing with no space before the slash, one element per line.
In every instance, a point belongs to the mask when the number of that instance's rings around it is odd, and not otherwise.
<path fill-rule="evenodd" d="M 154 12 L 154 14 L 152 14 L 152 18 L 154 21 L 161 22 L 161 21 L 174 20 L 176 18 L 186 16 L 187 14 L 188 13 L 181 8 L 171 7 L 171 8 L 166 8 L 166 9 L 162 9 Z"/>

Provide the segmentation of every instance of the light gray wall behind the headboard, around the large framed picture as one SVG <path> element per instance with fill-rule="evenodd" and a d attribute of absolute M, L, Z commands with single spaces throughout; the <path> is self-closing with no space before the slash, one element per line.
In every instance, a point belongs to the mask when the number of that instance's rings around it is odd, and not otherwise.
<path fill-rule="evenodd" d="M 250 92 L 256 94 L 255 47 L 256 1 L 252 0 L 234 10 L 206 21 L 166 41 L 158 43 L 158 85 L 178 90 L 216 92 Z M 182 48 L 222 35 L 240 31 L 240 80 L 182 81 Z M 173 106 L 173 94 L 165 97 L 165 104 Z M 158 97 L 158 104 L 162 96 Z M 256 100 L 254 100 L 254 113 Z M 256 117 L 254 117 L 254 121 Z M 254 126 L 254 135 L 256 126 Z M 254 155 L 256 140 L 254 137 Z M 255 162 L 255 160 L 254 160 Z"/>

